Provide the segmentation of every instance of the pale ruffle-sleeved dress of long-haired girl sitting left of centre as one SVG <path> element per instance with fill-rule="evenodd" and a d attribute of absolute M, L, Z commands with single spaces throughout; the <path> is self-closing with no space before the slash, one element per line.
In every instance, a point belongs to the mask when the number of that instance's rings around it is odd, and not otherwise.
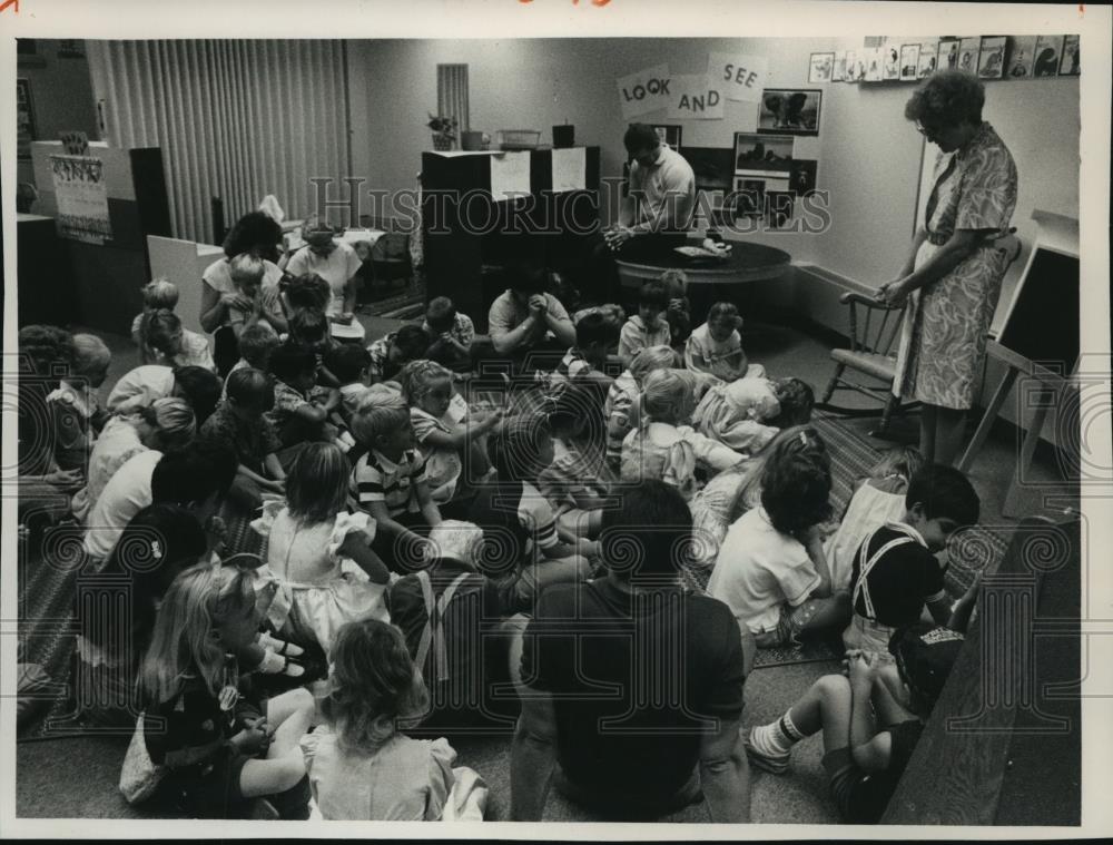
<path fill-rule="evenodd" d="M 267 514 L 262 522 L 265 524 Z M 256 530 L 259 530 L 257 527 Z M 259 567 L 259 608 L 276 633 L 297 643 L 316 642 L 327 655 L 341 626 L 356 619 L 390 622 L 386 584 L 375 583 L 339 548 L 352 531 L 374 538 L 366 513 L 338 513 L 332 522 L 302 525 L 283 508 L 270 524 L 267 562 Z"/>

